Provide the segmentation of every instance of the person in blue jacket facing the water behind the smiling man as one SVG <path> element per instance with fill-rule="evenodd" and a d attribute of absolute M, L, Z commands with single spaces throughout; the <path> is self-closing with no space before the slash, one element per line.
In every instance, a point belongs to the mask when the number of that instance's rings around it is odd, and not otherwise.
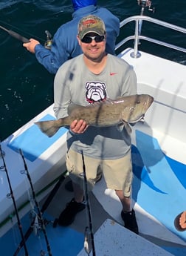
<path fill-rule="evenodd" d="M 106 8 L 97 7 L 97 0 L 72 0 L 72 4 L 75 10 L 72 13 L 72 21 L 58 28 L 50 50 L 35 39 L 30 39 L 30 42 L 23 44 L 27 50 L 35 53 L 38 62 L 44 65 L 49 73 L 55 74 L 66 60 L 82 53 L 77 43 L 77 24 L 83 16 L 89 14 L 103 19 L 107 33 L 106 52 L 114 54 L 115 42 L 120 33 L 120 20 Z"/>

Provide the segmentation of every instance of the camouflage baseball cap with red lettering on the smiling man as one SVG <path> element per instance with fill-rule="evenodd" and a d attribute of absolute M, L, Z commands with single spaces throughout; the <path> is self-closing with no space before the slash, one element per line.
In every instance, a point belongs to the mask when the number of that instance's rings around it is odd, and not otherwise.
<path fill-rule="evenodd" d="M 77 30 L 80 39 L 83 39 L 87 33 L 91 32 L 97 33 L 100 36 L 106 35 L 106 26 L 103 20 L 94 15 L 89 15 L 80 19 Z"/>

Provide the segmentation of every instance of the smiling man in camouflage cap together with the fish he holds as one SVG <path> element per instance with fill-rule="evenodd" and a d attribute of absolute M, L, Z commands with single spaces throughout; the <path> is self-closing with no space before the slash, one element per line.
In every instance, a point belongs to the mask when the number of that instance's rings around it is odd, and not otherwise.
<path fill-rule="evenodd" d="M 100 165 L 108 188 L 115 190 L 122 203 L 121 217 L 125 228 L 138 234 L 135 212 L 131 208 L 133 174 L 128 123 L 142 118 L 153 98 L 136 95 L 137 79 L 134 70 L 123 59 L 106 53 L 106 27 L 102 19 L 93 15 L 81 19 L 77 41 L 83 54 L 65 62 L 55 76 L 54 111 L 58 120 L 53 123 L 54 131 L 48 133 L 50 128 L 46 128 L 46 122 L 36 123 L 50 137 L 63 126 L 63 119 L 74 113 L 77 105 L 89 109 L 87 120 L 85 115 L 81 119 L 74 115 L 69 122 L 66 167 L 72 179 L 75 197 L 61 212 L 58 223 L 69 226 L 75 220 L 77 212 L 85 208 L 82 203 L 83 182 L 80 177 L 83 172 L 83 152 L 89 189 L 94 187 L 97 166 Z M 123 98 L 119 99 L 120 97 Z M 125 99 L 128 101 L 123 107 L 123 116 L 116 118 L 118 122 L 107 124 L 107 117 L 118 114 L 117 108 L 111 106 L 119 106 Z M 105 114 L 100 119 L 103 109 Z M 77 115 L 82 113 L 83 116 L 83 112 L 79 111 Z M 89 122 L 89 119 L 94 121 Z"/>

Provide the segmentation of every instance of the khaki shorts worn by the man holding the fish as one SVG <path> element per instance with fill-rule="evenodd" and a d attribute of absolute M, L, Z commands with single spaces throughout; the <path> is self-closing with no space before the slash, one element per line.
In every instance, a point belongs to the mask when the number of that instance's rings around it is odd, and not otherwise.
<path fill-rule="evenodd" d="M 84 156 L 86 179 L 88 188 L 92 190 L 94 180 L 97 176 L 97 168 L 101 168 L 108 188 L 114 190 L 123 190 L 125 197 L 131 195 L 131 182 L 133 178 L 131 167 L 131 151 L 125 157 L 117 160 L 98 160 L 92 157 Z M 69 177 L 74 183 L 83 188 L 83 161 L 82 155 L 70 149 L 66 154 L 66 168 L 69 171 Z"/>

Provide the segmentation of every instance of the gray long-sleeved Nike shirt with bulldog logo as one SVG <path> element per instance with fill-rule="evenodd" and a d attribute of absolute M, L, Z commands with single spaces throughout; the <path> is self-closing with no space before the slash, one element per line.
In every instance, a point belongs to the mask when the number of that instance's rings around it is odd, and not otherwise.
<path fill-rule="evenodd" d="M 133 68 L 123 59 L 108 54 L 106 67 L 96 75 L 83 61 L 83 54 L 65 62 L 59 68 L 54 83 L 55 116 L 67 116 L 70 103 L 89 105 L 105 99 L 117 99 L 137 93 L 137 79 Z M 67 146 L 75 151 L 100 159 L 118 159 L 131 148 L 131 136 L 117 126 L 97 128 L 89 126 L 83 134 L 67 135 Z"/>

